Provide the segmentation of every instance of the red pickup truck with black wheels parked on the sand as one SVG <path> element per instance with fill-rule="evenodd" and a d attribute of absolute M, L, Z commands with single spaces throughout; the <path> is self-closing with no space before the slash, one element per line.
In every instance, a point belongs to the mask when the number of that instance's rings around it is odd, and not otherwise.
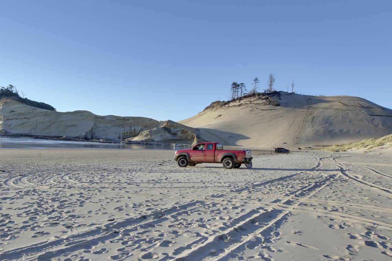
<path fill-rule="evenodd" d="M 174 160 L 178 166 L 195 166 L 199 163 L 222 163 L 225 169 L 239 168 L 244 163 L 252 167 L 252 151 L 250 150 L 224 150 L 219 142 L 202 142 L 192 149 L 177 150 Z"/>

